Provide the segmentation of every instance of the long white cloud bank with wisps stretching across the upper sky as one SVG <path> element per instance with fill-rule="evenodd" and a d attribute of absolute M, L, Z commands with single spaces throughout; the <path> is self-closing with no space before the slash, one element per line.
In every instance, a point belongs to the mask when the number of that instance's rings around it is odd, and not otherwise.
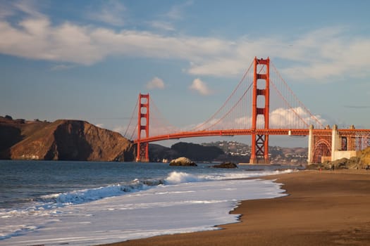
<path fill-rule="evenodd" d="M 0 12 L 3 17 L 12 11 L 26 13 L 18 25 L 0 18 L 1 37 L 6 37 L 0 39 L 0 53 L 11 56 L 78 65 L 92 65 L 109 56 L 185 60 L 190 64 L 184 68 L 185 72 L 215 77 L 238 77 L 254 56 L 270 56 L 272 60 L 292 62 L 279 70 L 284 78 L 295 81 L 328 82 L 332 77 L 370 75 L 370 56 L 366 52 L 370 50 L 370 38 L 351 37 L 343 27 L 323 28 L 293 38 L 240 37 L 236 40 L 136 30 L 118 32 L 73 22 L 53 25 L 46 15 L 27 4 L 29 1 L 16 3 L 10 10 Z M 191 2 L 187 2 L 189 4 Z M 118 1 L 109 1 L 106 6 L 110 7 L 95 13 L 100 16 L 99 20 L 123 25 L 121 13 L 125 7 Z M 178 16 L 176 8 L 170 12 L 173 18 Z M 173 28 L 169 22 L 152 22 L 152 25 L 162 30 Z"/>

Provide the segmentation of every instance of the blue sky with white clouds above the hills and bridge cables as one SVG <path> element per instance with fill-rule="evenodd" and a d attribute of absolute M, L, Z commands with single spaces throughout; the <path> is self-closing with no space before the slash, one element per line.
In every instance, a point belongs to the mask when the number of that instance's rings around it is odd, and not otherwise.
<path fill-rule="evenodd" d="M 123 134 L 138 94 L 150 93 L 186 127 L 220 108 L 257 56 L 314 115 L 370 129 L 369 9 L 362 0 L 0 0 L 0 115 Z"/>

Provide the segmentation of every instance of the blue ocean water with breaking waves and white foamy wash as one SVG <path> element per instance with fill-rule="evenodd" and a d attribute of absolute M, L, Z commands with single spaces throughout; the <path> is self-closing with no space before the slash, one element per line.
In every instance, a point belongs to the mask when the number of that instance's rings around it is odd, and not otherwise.
<path fill-rule="evenodd" d="M 235 223 L 240 200 L 276 198 L 290 172 L 163 163 L 0 161 L 0 245 L 99 245 Z"/>

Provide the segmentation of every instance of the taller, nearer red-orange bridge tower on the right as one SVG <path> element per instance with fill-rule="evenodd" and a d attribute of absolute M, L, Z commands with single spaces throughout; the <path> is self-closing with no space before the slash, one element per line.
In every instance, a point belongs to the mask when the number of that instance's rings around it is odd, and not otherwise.
<path fill-rule="evenodd" d="M 269 129 L 270 107 L 270 58 L 254 58 L 253 96 L 252 96 L 252 153 L 251 164 L 269 161 L 269 135 L 256 134 L 256 129 Z M 263 117 L 263 121 L 258 120 Z M 258 122 L 258 124 L 257 124 Z M 261 124 L 264 123 L 262 127 Z"/>

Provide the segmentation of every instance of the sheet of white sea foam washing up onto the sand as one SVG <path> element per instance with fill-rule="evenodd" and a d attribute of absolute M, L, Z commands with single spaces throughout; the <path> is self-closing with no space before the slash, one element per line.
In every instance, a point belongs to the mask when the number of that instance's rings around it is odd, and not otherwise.
<path fill-rule="evenodd" d="M 8 231 L 0 232 L 0 245 L 99 245 L 216 230 L 238 221 L 229 212 L 240 200 L 285 195 L 281 184 L 259 179 L 206 181 L 173 172 L 164 183 L 93 202 L 4 214 L 1 226 Z"/>

